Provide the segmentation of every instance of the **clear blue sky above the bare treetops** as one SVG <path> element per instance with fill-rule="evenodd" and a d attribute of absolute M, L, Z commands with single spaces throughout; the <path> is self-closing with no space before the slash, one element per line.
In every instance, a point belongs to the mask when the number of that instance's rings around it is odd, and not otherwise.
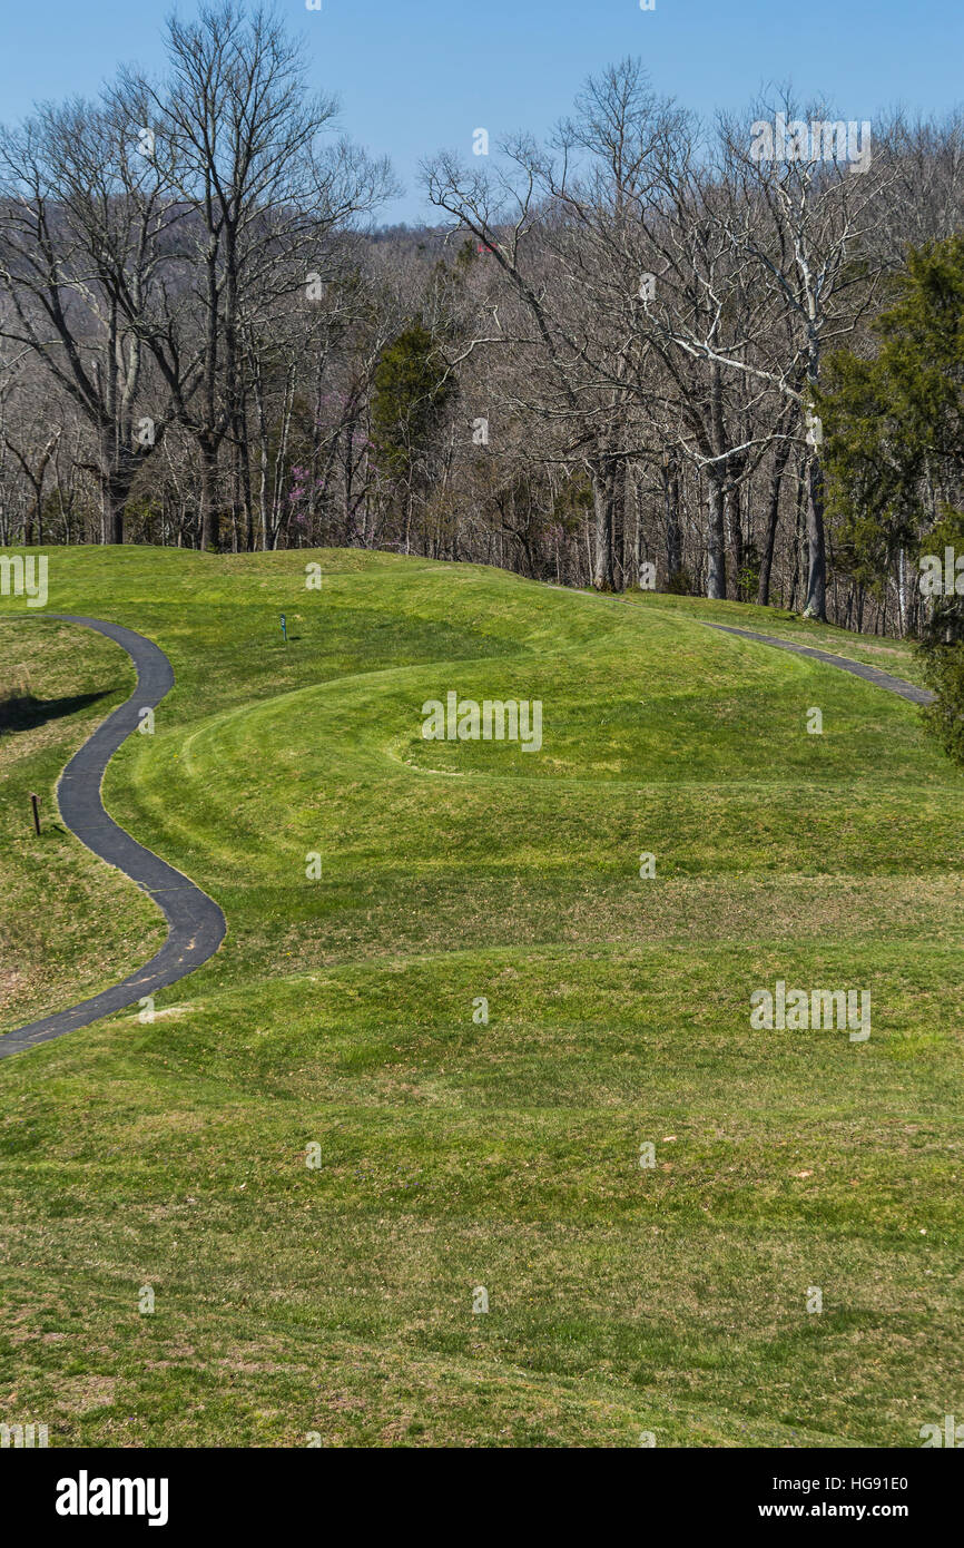
<path fill-rule="evenodd" d="M 142 0 L 2 0 L 0 113 L 43 98 L 93 94 L 115 63 L 161 67 L 170 5 Z M 192 15 L 195 0 L 179 0 Z M 391 156 L 407 194 L 384 218 L 427 214 L 421 156 L 470 153 L 545 132 L 585 76 L 639 54 L 655 87 L 687 107 L 749 104 L 766 82 L 825 94 L 840 118 L 873 121 L 902 104 L 944 111 L 964 101 L 961 0 L 277 0 L 305 37 L 311 76 L 342 99 L 342 124 Z"/>

